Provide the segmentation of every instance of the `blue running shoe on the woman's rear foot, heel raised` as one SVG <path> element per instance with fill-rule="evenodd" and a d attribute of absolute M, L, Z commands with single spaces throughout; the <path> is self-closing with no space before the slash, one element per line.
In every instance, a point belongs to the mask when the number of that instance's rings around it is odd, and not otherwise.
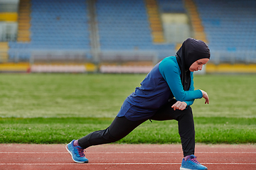
<path fill-rule="evenodd" d="M 71 154 L 71 157 L 76 163 L 88 163 L 88 159 L 85 157 L 85 151 L 80 146 L 74 147 L 75 140 L 71 141 L 68 145 L 66 145 L 66 149 L 68 153 Z"/>

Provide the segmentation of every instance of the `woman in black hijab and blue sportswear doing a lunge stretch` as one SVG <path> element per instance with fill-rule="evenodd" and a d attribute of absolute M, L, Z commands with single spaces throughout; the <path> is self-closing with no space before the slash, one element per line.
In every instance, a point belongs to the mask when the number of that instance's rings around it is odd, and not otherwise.
<path fill-rule="evenodd" d="M 91 132 L 73 140 L 66 149 L 73 161 L 87 163 L 84 149 L 122 139 L 146 120 L 177 120 L 183 156 L 181 169 L 207 169 L 194 156 L 195 130 L 191 105 L 196 98 L 205 98 L 205 91 L 194 90 L 193 72 L 202 69 L 210 59 L 205 42 L 188 38 L 176 53 L 156 64 L 124 101 L 117 117 L 105 130 Z"/>

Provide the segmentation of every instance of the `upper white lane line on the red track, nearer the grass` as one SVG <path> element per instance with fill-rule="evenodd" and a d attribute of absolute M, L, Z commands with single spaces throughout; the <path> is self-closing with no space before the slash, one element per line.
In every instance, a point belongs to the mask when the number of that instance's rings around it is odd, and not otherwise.
<path fill-rule="evenodd" d="M 0 152 L 0 154 L 68 154 L 68 152 Z M 86 154 L 182 154 L 182 152 L 86 152 Z M 196 152 L 196 154 L 256 154 L 256 152 Z"/>

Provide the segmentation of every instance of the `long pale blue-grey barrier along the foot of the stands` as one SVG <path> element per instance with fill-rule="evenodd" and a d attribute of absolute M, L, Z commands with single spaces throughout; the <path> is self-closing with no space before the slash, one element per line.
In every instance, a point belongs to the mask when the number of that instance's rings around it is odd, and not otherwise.
<path fill-rule="evenodd" d="M 210 62 L 214 64 L 221 63 L 241 63 L 241 64 L 255 64 L 256 50 L 239 50 L 239 51 L 220 51 L 210 50 Z M 9 62 L 93 62 L 90 51 L 85 50 L 9 50 Z M 95 64 L 101 62 L 143 62 L 151 61 L 156 64 L 164 57 L 176 55 L 174 50 L 132 50 L 132 51 L 100 51 L 97 52 L 99 60 Z M 0 52 L 0 60 L 2 58 Z M 160 57 L 159 57 L 160 56 Z M 0 61 L 1 62 L 1 61 Z"/>

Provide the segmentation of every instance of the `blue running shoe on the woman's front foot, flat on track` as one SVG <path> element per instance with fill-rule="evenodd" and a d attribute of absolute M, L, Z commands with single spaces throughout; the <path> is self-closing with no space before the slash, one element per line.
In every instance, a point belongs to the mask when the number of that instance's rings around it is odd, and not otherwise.
<path fill-rule="evenodd" d="M 188 158 L 186 161 L 183 158 L 181 163 L 180 170 L 208 170 L 206 166 L 201 165 L 197 160 L 196 156 L 191 154 L 190 158 Z"/>

